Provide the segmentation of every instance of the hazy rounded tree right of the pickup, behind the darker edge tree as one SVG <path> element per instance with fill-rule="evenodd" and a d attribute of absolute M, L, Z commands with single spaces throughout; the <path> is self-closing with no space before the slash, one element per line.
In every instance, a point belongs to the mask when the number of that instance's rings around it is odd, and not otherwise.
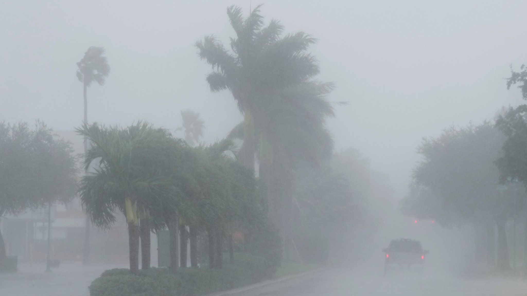
<path fill-rule="evenodd" d="M 505 136 L 489 122 L 451 127 L 437 139 L 425 139 L 418 148 L 423 160 L 414 170 L 414 186 L 424 191 L 407 200 L 406 206 L 418 216 L 438 215 L 434 218 L 440 222 L 447 217 L 454 218 L 454 223 L 477 221 L 479 216 L 494 220 L 498 268 L 509 270 L 505 223 L 521 204 L 514 205 L 514 184 L 500 184 L 495 161 L 504 142 Z M 431 212 L 434 205 L 442 206 Z"/>

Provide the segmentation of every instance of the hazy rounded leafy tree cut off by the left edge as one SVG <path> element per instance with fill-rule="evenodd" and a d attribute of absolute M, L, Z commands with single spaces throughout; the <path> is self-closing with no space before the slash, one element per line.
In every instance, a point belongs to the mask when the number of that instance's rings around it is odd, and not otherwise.
<path fill-rule="evenodd" d="M 70 201 L 76 185 L 72 153 L 71 144 L 40 121 L 34 129 L 27 123 L 0 123 L 0 218 Z M 0 233 L 0 269 L 5 260 Z"/>

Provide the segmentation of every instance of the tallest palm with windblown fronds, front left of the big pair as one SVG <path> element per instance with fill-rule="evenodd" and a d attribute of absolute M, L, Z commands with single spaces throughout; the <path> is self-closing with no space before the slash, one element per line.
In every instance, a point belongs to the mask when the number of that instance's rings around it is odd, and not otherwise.
<path fill-rule="evenodd" d="M 237 38 L 231 38 L 232 53 L 213 35 L 198 41 L 202 60 L 213 68 L 207 76 L 212 92 L 229 90 L 244 116 L 245 139 L 240 150 L 242 162 L 253 169 L 258 126 L 266 114 L 267 99 L 274 91 L 305 83 L 319 73 L 315 57 L 306 53 L 316 40 L 304 32 L 281 37 L 284 27 L 272 19 L 263 27 L 257 6 L 247 18 L 240 7 L 227 8 Z"/>

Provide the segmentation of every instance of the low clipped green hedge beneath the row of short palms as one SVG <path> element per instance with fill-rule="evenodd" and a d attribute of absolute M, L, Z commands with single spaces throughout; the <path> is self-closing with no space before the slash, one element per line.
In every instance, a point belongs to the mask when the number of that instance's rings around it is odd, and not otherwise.
<path fill-rule="evenodd" d="M 88 289 L 91 296 L 199 296 L 267 280 L 276 271 L 261 256 L 236 253 L 235 259 L 219 270 L 181 268 L 170 273 L 167 268 L 151 268 L 132 275 L 128 269 L 110 269 Z"/>

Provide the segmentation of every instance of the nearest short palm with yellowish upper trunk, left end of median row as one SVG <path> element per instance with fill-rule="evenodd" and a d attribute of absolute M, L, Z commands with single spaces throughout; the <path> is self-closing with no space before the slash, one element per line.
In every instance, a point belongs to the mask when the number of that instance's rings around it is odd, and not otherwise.
<path fill-rule="evenodd" d="M 126 217 L 129 231 L 130 271 L 139 269 L 140 216 L 157 218 L 159 209 L 174 212 L 177 189 L 171 179 L 174 159 L 169 133 L 137 123 L 126 129 L 84 124 L 77 133 L 91 143 L 84 160 L 98 167 L 81 181 L 83 207 L 99 228 L 115 222 L 114 211 Z M 159 225 L 160 219 L 154 220 Z M 150 230 L 150 229 L 148 229 Z"/>

